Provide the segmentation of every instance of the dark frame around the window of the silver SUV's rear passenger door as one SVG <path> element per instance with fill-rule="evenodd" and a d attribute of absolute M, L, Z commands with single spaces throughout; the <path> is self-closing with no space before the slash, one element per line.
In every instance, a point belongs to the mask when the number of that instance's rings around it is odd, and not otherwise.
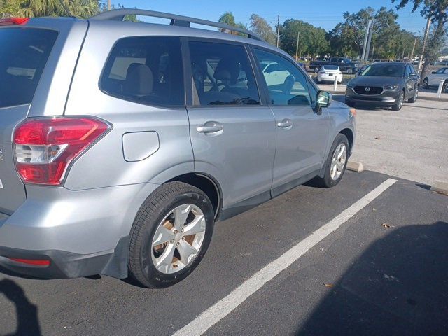
<path fill-rule="evenodd" d="M 184 37 L 183 38 L 186 41 L 186 48 L 185 48 L 185 52 L 187 57 L 184 57 L 184 59 L 188 59 L 188 67 L 186 68 L 186 76 L 188 76 L 188 78 L 191 78 L 191 80 L 187 80 L 188 81 L 188 86 L 190 86 L 190 91 L 188 92 L 188 94 L 190 95 L 190 97 L 187 97 L 187 102 L 190 102 L 190 104 L 187 104 L 186 107 L 188 109 L 217 109 L 217 108 L 239 108 L 241 109 L 241 107 L 244 107 L 244 109 L 249 108 L 249 109 L 255 109 L 258 108 L 260 106 L 267 106 L 266 104 L 266 100 L 264 97 L 264 92 L 262 92 L 261 87 L 260 87 L 260 82 L 259 79 L 257 77 L 257 71 L 255 71 L 254 68 L 254 62 L 253 62 L 253 57 L 251 55 L 251 49 L 250 49 L 250 45 L 248 45 L 247 43 L 241 43 L 241 42 L 237 42 L 237 41 L 228 41 L 228 40 L 222 40 L 220 38 L 203 38 L 203 37 L 193 37 L 193 36 L 188 36 L 188 37 Z M 257 86 L 257 90 L 258 90 L 258 96 L 260 98 L 260 104 L 220 104 L 220 105 L 201 105 L 200 102 L 197 102 L 198 104 L 195 104 L 195 99 L 193 97 L 193 73 L 192 73 L 192 69 L 191 69 L 191 59 L 190 59 L 190 42 L 208 42 L 208 43 L 220 43 L 220 44 L 227 44 L 227 45 L 238 45 L 238 46 L 242 46 L 244 48 L 244 50 L 246 51 L 246 55 L 248 58 L 248 62 L 249 62 L 249 66 L 251 66 L 252 69 L 252 73 L 255 79 L 255 85 Z"/>

